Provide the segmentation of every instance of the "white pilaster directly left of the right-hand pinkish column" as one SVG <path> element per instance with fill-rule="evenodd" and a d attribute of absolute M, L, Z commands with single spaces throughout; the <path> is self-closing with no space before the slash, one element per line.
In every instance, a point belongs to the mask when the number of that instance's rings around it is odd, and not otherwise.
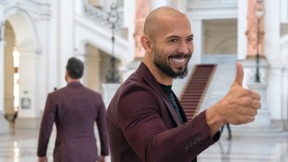
<path fill-rule="evenodd" d="M 244 60 L 247 56 L 247 13 L 248 0 L 238 1 L 238 18 L 237 18 L 237 58 Z"/>

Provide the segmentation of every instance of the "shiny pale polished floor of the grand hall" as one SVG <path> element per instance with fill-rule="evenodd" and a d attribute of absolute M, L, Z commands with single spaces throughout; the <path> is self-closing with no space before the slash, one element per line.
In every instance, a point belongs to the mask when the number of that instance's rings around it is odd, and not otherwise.
<path fill-rule="evenodd" d="M 11 129 L 10 133 L 0 134 L 0 162 L 37 161 L 38 134 L 39 129 Z M 53 161 L 55 137 L 53 129 L 47 150 L 49 162 Z M 226 138 L 227 133 L 223 133 L 219 142 L 198 156 L 198 162 L 288 162 L 288 139 Z"/>

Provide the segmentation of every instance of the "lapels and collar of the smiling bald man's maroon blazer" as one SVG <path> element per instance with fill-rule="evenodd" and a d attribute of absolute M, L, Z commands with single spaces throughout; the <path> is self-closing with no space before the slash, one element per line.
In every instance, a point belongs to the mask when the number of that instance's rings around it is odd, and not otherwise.
<path fill-rule="evenodd" d="M 162 100 L 164 101 L 166 107 L 168 108 L 168 111 L 170 112 L 170 114 L 173 117 L 173 120 L 175 121 L 175 123 L 177 124 L 177 126 L 180 126 L 180 121 L 179 118 L 172 106 L 172 104 L 170 103 L 169 99 L 167 98 L 167 96 L 165 95 L 165 93 L 163 92 L 162 88 L 160 87 L 159 83 L 157 82 L 157 80 L 154 78 L 154 76 L 152 75 L 152 73 L 150 72 L 150 70 L 148 69 L 148 67 L 143 63 L 143 61 L 140 63 L 138 69 L 136 70 L 136 73 L 139 74 L 140 76 L 143 77 L 143 79 L 147 82 L 147 84 L 154 89 L 154 91 L 156 93 L 158 93 L 158 95 L 162 98 Z M 173 93 L 173 92 L 172 92 Z M 182 106 L 179 102 L 178 99 L 176 99 L 177 97 L 175 96 L 175 94 L 173 93 L 174 97 L 175 97 L 175 101 L 177 102 L 177 105 L 179 107 L 179 111 L 180 108 L 182 109 Z M 180 111 L 181 112 L 181 111 Z M 183 111 L 182 111 L 183 112 Z M 183 115 L 182 115 L 183 116 Z M 184 116 L 186 118 L 186 115 L 184 113 Z M 183 118 L 184 121 L 184 118 Z M 184 121 L 185 122 L 185 121 Z"/>

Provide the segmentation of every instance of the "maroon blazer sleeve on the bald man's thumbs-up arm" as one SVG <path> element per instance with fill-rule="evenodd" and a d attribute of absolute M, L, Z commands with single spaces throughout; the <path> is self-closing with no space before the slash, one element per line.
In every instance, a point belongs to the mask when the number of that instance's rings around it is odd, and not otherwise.
<path fill-rule="evenodd" d="M 219 139 L 219 134 L 216 141 L 211 137 L 205 112 L 167 130 L 163 120 L 171 117 L 162 116 L 167 108 L 161 97 L 149 86 L 127 89 L 118 102 L 120 127 L 142 161 L 191 161 Z M 186 149 L 199 136 L 201 140 Z"/>

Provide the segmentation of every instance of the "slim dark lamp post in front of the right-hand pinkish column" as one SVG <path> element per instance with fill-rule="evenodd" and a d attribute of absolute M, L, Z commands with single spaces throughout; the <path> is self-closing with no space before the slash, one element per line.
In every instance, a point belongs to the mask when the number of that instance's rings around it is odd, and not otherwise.
<path fill-rule="evenodd" d="M 257 5 L 259 6 L 256 11 L 257 16 L 257 44 L 256 44 L 256 82 L 260 82 L 260 74 L 259 74 L 259 42 L 260 42 L 260 18 L 264 15 L 264 10 L 262 9 L 262 3 L 263 0 L 257 0 Z"/>

